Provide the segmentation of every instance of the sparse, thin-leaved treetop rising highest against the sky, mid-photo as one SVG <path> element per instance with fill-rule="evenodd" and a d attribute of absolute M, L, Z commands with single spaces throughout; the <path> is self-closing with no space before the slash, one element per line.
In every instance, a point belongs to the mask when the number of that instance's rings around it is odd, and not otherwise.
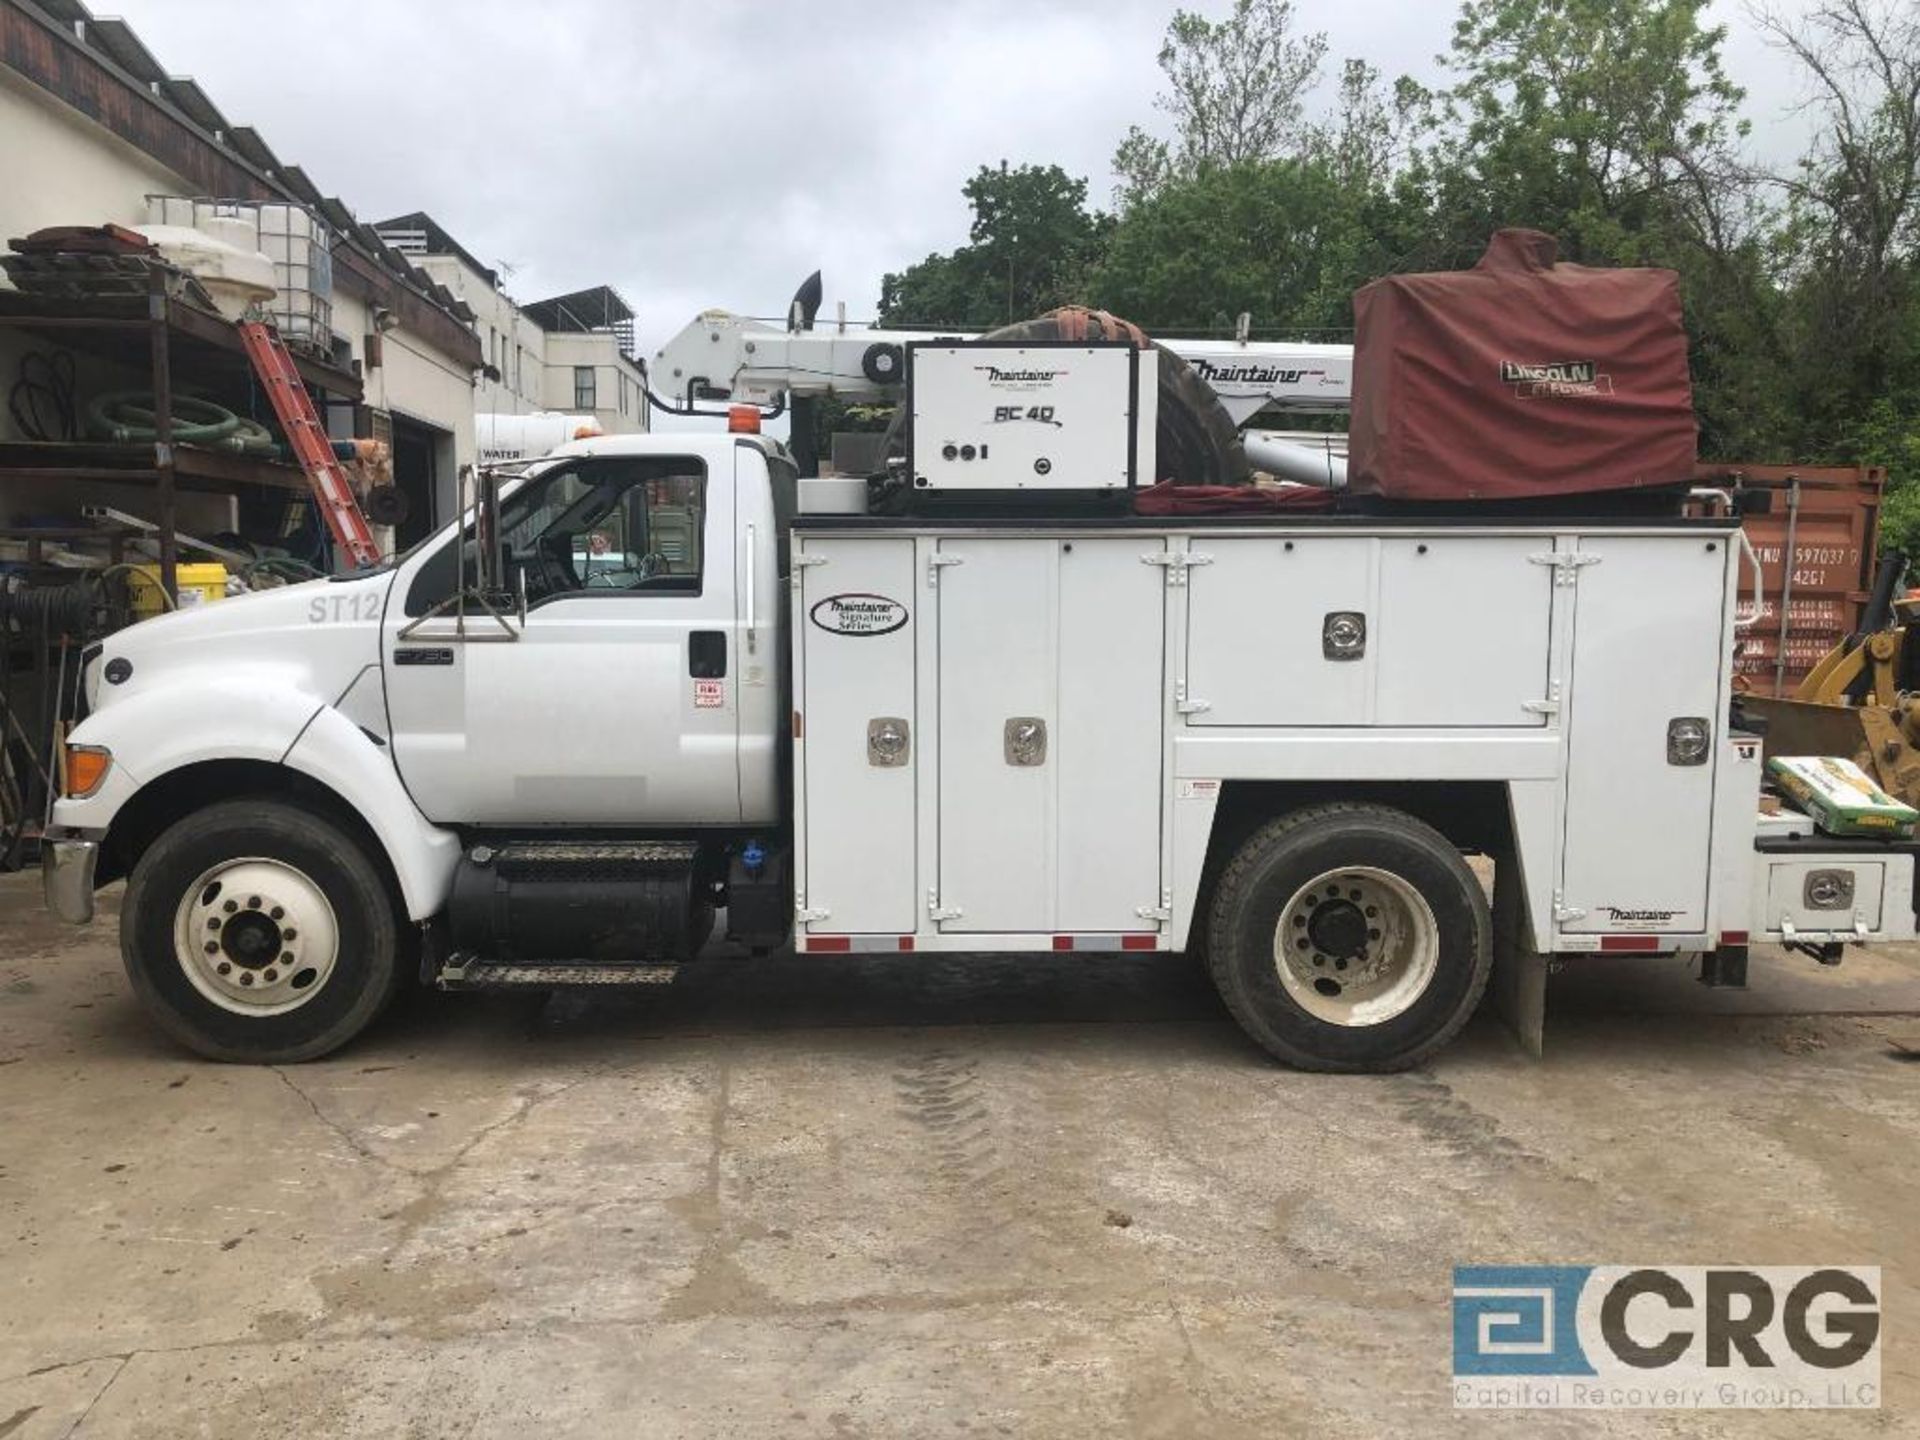
<path fill-rule="evenodd" d="M 1173 138 L 1127 131 L 1114 156 L 1123 202 L 1171 179 L 1300 150 L 1306 94 L 1325 58 L 1325 35 L 1294 35 L 1294 0 L 1233 0 L 1221 21 L 1175 10 L 1160 44 L 1167 88 L 1154 100 L 1173 119 Z"/>

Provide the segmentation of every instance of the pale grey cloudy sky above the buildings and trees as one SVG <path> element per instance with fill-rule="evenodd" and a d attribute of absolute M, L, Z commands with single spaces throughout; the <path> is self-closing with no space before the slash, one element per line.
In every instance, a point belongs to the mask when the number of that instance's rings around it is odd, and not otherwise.
<path fill-rule="evenodd" d="M 1188 6 L 1194 0 L 1187 0 Z M 1805 0 L 1784 0 L 1789 10 Z M 1225 12 L 1227 0 L 1198 0 Z M 1058 161 L 1112 194 L 1152 123 L 1173 0 L 96 0 L 171 73 L 363 219 L 426 209 L 518 300 L 614 284 L 657 346 L 699 309 L 828 313 L 966 238 L 981 163 Z M 1453 6 L 1300 0 L 1302 29 L 1436 75 Z M 1745 13 L 1728 67 L 1791 152 L 1791 67 Z"/>

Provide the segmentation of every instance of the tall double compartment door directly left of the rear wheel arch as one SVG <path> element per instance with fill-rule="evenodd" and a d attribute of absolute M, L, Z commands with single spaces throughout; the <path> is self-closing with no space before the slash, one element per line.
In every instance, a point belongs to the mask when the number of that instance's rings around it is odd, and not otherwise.
<path fill-rule="evenodd" d="M 1164 540 L 941 540 L 943 931 L 1154 931 Z"/>

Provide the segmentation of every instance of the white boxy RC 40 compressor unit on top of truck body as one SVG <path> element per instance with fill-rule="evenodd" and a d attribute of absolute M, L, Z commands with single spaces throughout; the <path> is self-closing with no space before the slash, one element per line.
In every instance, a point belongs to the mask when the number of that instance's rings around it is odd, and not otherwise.
<path fill-rule="evenodd" d="M 914 492 L 1125 499 L 1152 484 L 1154 359 L 1123 342 L 908 346 Z"/>

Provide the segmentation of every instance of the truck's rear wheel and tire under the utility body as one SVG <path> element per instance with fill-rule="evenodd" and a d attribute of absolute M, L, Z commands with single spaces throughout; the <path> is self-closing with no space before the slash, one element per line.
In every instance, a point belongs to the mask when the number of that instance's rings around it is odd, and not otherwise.
<path fill-rule="evenodd" d="M 1417 1066 L 1467 1023 L 1494 962 L 1459 851 L 1382 804 L 1256 829 L 1221 872 L 1206 941 L 1227 1010 L 1302 1069 Z"/>

